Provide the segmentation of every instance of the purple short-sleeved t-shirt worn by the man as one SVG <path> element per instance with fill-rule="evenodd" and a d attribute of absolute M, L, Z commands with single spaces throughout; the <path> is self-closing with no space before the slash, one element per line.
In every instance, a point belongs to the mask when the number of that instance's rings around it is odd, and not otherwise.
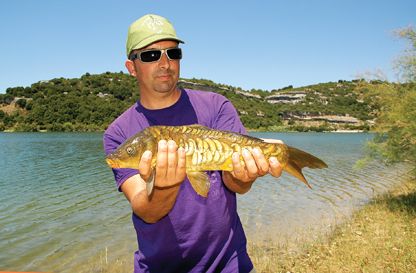
<path fill-rule="evenodd" d="M 183 89 L 174 105 L 145 109 L 140 102 L 127 109 L 104 133 L 106 154 L 150 125 L 198 123 L 214 129 L 245 133 L 235 108 L 225 97 Z M 137 174 L 113 169 L 118 187 Z M 154 224 L 133 213 L 139 249 L 134 272 L 250 272 L 246 237 L 237 214 L 234 192 L 222 182 L 219 171 L 209 172 L 208 197 L 199 196 L 188 179 L 181 184 L 172 210 Z"/>

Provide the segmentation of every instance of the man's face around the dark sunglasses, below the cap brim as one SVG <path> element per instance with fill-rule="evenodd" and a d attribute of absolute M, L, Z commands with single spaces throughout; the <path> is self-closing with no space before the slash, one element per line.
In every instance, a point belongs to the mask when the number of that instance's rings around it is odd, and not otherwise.
<path fill-rule="evenodd" d="M 178 43 L 175 41 L 159 41 L 136 52 L 172 48 L 177 45 Z M 133 61 L 133 67 L 134 71 L 129 69 L 129 72 L 136 77 L 140 92 L 166 93 L 175 90 L 179 80 L 180 62 L 179 60 L 169 60 L 166 52 L 162 54 L 159 61 L 155 62 L 144 63 L 136 59 Z"/>

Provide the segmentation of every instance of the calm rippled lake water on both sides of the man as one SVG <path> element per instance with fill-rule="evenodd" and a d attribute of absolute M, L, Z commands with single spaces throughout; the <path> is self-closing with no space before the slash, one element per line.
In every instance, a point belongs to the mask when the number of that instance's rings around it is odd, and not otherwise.
<path fill-rule="evenodd" d="M 288 175 L 266 176 L 239 196 L 249 239 L 319 235 L 405 170 L 372 164 L 356 170 L 370 134 L 255 133 L 322 158 L 306 170 L 313 189 Z M 0 133 L 0 271 L 101 272 L 131 268 L 136 239 L 128 202 L 104 162 L 102 134 Z"/>

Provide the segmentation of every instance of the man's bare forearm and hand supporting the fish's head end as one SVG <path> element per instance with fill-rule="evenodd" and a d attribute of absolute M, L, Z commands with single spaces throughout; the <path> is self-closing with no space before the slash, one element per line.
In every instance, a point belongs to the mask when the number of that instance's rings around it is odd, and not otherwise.
<path fill-rule="evenodd" d="M 147 223 L 156 223 L 175 204 L 180 184 L 186 175 L 185 151 L 174 141 L 160 141 L 156 160 L 155 187 L 152 195 L 146 191 L 146 180 L 152 173 L 152 153 L 146 151 L 139 163 L 140 174 L 128 178 L 122 185 L 133 212 Z"/>

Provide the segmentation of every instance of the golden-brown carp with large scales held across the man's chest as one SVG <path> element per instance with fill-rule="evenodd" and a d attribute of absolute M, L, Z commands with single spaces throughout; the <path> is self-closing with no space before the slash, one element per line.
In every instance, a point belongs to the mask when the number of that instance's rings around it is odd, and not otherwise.
<path fill-rule="evenodd" d="M 232 131 L 215 130 L 202 125 L 184 126 L 150 126 L 124 141 L 114 152 L 106 157 L 111 168 L 138 169 L 139 161 L 145 151 L 152 152 L 152 175 L 146 181 L 147 194 L 153 191 L 156 168 L 157 146 L 160 140 L 173 140 L 186 153 L 186 175 L 195 192 L 203 197 L 208 196 L 210 182 L 206 171 L 232 171 L 232 154 L 243 149 L 250 152 L 260 149 L 264 157 L 276 157 L 283 171 L 310 184 L 302 173 L 302 168 L 322 169 L 328 165 L 321 159 L 288 146 L 284 143 L 268 143 L 261 138 L 239 134 Z"/>

